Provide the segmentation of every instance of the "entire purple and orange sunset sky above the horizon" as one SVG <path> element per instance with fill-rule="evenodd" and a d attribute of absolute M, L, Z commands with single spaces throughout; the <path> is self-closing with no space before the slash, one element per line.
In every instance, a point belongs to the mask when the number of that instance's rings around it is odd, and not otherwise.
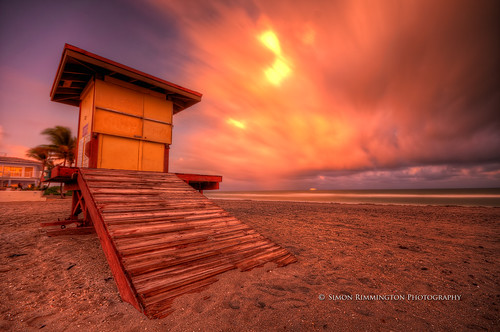
<path fill-rule="evenodd" d="M 223 190 L 500 187 L 499 4 L 0 0 L 0 153 L 76 133 L 69 43 L 201 92 L 170 170 Z"/>

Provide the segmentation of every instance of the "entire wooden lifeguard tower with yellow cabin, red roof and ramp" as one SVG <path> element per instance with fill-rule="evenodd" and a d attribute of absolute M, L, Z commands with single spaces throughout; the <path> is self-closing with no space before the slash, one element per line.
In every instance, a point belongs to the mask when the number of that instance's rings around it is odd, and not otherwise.
<path fill-rule="evenodd" d="M 221 176 L 168 172 L 173 116 L 200 93 L 66 44 L 50 96 L 80 113 L 76 167 L 48 179 L 73 190 L 70 217 L 43 226 L 95 230 L 124 301 L 161 318 L 220 273 L 296 261 L 202 195 Z"/>

